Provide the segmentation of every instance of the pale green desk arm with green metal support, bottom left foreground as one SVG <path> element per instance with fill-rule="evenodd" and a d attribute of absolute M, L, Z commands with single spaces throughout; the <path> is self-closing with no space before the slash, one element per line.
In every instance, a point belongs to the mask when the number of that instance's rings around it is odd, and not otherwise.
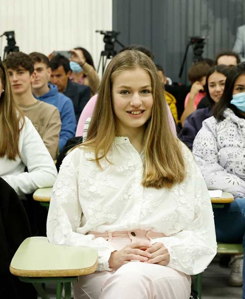
<path fill-rule="evenodd" d="M 32 283 L 42 299 L 49 299 L 44 283 L 56 283 L 56 299 L 71 299 L 72 282 L 78 276 L 91 274 L 98 266 L 98 253 L 89 247 L 50 244 L 47 237 L 25 239 L 16 251 L 10 272 L 20 280 Z"/>

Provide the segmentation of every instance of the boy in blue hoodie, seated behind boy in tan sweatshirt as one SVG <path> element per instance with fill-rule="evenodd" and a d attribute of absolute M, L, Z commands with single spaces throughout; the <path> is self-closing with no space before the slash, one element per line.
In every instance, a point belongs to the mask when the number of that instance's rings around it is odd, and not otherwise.
<path fill-rule="evenodd" d="M 61 151 L 67 140 L 75 135 L 76 119 L 73 102 L 59 93 L 56 85 L 49 83 L 51 69 L 49 68 L 48 57 L 38 52 L 30 53 L 30 57 L 34 61 L 35 71 L 35 79 L 31 83 L 32 93 L 36 99 L 57 107 L 60 113 L 59 151 Z"/>

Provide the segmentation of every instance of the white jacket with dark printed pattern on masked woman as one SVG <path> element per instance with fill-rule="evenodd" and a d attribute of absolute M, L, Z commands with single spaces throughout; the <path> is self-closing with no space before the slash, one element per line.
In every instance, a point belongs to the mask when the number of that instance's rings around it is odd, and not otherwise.
<path fill-rule="evenodd" d="M 208 189 L 221 189 L 245 198 L 245 119 L 227 108 L 225 119 L 213 116 L 202 123 L 193 154 Z"/>

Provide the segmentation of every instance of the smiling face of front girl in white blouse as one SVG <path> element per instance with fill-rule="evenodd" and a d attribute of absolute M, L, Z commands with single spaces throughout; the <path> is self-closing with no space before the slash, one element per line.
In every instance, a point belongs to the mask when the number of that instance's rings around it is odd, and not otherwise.
<path fill-rule="evenodd" d="M 136 68 L 115 75 L 112 82 L 113 109 L 118 134 L 128 136 L 133 129 L 145 130 L 151 117 L 153 96 L 149 74 Z"/>

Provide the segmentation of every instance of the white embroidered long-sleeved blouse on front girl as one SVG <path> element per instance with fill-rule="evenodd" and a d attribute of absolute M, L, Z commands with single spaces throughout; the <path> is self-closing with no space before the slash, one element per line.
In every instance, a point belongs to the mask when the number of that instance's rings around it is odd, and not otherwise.
<path fill-rule="evenodd" d="M 99 169 L 92 151 L 76 148 L 60 168 L 47 222 L 49 241 L 98 250 L 98 271 L 110 271 L 115 249 L 89 231 L 134 229 L 161 232 L 170 253 L 169 267 L 186 274 L 202 272 L 216 254 L 214 217 L 204 179 L 183 145 L 186 179 L 172 189 L 141 185 L 144 154 L 127 137 L 116 137 Z"/>

